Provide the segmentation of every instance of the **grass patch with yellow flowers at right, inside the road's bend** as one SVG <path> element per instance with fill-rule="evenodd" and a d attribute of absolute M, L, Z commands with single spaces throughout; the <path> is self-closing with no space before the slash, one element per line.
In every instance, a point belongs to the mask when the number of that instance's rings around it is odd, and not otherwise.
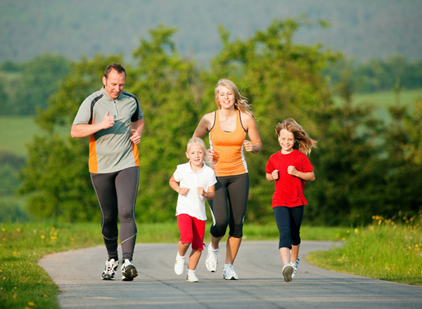
<path fill-rule="evenodd" d="M 328 270 L 422 286 L 422 213 L 398 222 L 373 219 L 369 227 L 350 230 L 340 248 L 312 252 L 307 261 Z"/>

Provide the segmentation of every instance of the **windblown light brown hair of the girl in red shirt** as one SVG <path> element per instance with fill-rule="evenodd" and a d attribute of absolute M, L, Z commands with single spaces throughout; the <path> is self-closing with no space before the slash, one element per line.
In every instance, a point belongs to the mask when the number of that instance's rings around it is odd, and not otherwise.
<path fill-rule="evenodd" d="M 309 155 L 312 151 L 312 148 L 316 148 L 316 140 L 313 140 L 312 138 L 309 138 L 307 135 L 305 129 L 298 124 L 295 119 L 288 118 L 284 119 L 283 122 L 277 124 L 276 126 L 276 133 L 277 138 L 280 136 L 280 131 L 286 129 L 290 133 L 293 133 L 293 136 L 295 137 L 296 143 L 293 146 L 294 149 L 297 149 L 305 155 Z"/>

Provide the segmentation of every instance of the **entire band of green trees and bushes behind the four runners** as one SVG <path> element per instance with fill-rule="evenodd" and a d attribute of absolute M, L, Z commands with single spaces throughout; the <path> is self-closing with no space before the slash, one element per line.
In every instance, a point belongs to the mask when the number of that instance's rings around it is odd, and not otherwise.
<path fill-rule="evenodd" d="M 274 20 L 267 31 L 233 41 L 220 27 L 223 48 L 209 72 L 179 56 L 172 28 L 159 26 L 151 30 L 150 39 L 141 39 L 134 51 L 136 65 L 125 65 L 126 89 L 139 98 L 146 117 L 139 144 L 138 221 L 165 222 L 174 217 L 177 193 L 168 180 L 177 164 L 187 161 L 186 143 L 200 117 L 217 109 L 214 86 L 223 77 L 233 80 L 252 103 L 263 142 L 260 154 L 245 154 L 250 222 L 274 220 L 274 183 L 265 179 L 264 171 L 269 156 L 280 149 L 275 126 L 288 117 L 319 140 L 310 155 L 316 181 L 306 185 L 305 224 L 359 224 L 370 221 L 373 214 L 418 211 L 421 103 L 411 109 L 400 105 L 397 83 L 397 103 L 389 110 L 392 121 L 380 121 L 370 106 L 352 104 L 354 88 L 348 74 L 336 85 L 345 102 L 333 103 L 321 72 L 341 55 L 319 44 L 294 43 L 293 34 L 305 25 L 309 22 L 304 18 Z M 82 100 L 102 86 L 104 67 L 112 62 L 122 63 L 121 56 L 96 55 L 72 63 L 49 107 L 39 113 L 39 126 L 46 133 L 30 146 L 22 177 L 22 192 L 30 195 L 32 214 L 70 222 L 100 216 L 87 169 L 88 140 L 63 138 L 58 130 L 70 130 Z"/>

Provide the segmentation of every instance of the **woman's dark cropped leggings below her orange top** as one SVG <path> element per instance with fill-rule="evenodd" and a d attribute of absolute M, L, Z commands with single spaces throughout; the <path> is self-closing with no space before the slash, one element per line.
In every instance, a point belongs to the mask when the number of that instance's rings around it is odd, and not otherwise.
<path fill-rule="evenodd" d="M 249 174 L 217 177 L 215 197 L 208 201 L 212 214 L 210 233 L 222 237 L 229 226 L 231 237 L 243 236 L 243 220 L 249 195 Z M 229 202 L 229 206 L 227 206 Z"/>

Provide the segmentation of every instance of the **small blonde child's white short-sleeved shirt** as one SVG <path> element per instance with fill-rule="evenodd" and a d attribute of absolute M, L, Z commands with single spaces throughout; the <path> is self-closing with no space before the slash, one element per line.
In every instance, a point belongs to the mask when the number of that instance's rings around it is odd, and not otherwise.
<path fill-rule="evenodd" d="M 180 164 L 174 172 L 174 180 L 179 183 L 181 188 L 188 188 L 186 195 L 179 195 L 177 198 L 176 216 L 186 213 L 198 220 L 207 220 L 205 214 L 205 197 L 199 195 L 198 187 L 204 188 L 207 192 L 208 187 L 215 185 L 214 170 L 204 164 L 203 168 L 195 173 L 192 171 L 191 163 Z"/>

